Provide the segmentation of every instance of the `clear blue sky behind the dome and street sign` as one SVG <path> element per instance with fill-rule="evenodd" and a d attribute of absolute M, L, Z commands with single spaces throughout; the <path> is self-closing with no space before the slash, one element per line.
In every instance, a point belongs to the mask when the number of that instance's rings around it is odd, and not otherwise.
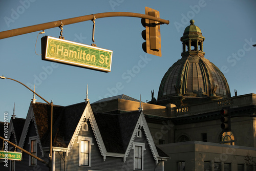
<path fill-rule="evenodd" d="M 102 12 L 145 13 L 145 7 L 156 9 L 160 18 L 170 21 L 161 25 L 162 57 L 144 53 L 140 18 L 96 18 L 95 44 L 113 51 L 112 70 L 103 73 L 41 60 L 42 36 L 58 37 L 59 28 L 19 35 L 0 40 L 0 75 L 16 79 L 27 86 L 35 84 L 36 92 L 53 104 L 70 105 L 84 101 L 87 84 L 90 102 L 125 94 L 142 101 L 157 98 L 162 77 L 181 58 L 180 37 L 194 19 L 203 36 L 205 58 L 225 75 L 231 92 L 238 95 L 256 93 L 256 2 L 240 0 L 195 1 L 0 1 L 0 31 L 53 22 Z M 92 44 L 91 21 L 63 26 L 66 40 Z M 36 53 L 35 53 L 36 50 Z M 139 63 L 143 65 L 139 65 Z M 140 67 L 139 67 L 140 66 Z M 121 85 L 121 86 L 120 86 Z M 16 117 L 26 118 L 33 94 L 12 80 L 0 80 L 0 121 L 9 119 L 15 102 Z M 36 101 L 44 102 L 39 97 Z M 138 106 L 139 107 L 139 106 Z"/>

